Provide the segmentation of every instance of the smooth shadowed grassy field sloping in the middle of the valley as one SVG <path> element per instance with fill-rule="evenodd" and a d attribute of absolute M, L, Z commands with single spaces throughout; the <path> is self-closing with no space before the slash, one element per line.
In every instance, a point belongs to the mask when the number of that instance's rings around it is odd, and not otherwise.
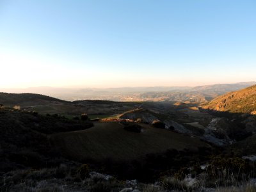
<path fill-rule="evenodd" d="M 141 124 L 143 132 L 125 131 L 117 122 L 94 122 L 94 127 L 83 131 L 64 132 L 51 136 L 52 144 L 72 159 L 132 160 L 146 154 L 167 149 L 182 150 L 209 147 L 206 143 L 165 129 Z"/>

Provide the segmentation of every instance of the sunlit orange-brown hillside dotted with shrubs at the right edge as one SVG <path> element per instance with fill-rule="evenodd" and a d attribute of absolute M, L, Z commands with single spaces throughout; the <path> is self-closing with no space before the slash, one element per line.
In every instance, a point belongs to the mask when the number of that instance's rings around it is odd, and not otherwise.
<path fill-rule="evenodd" d="M 230 113 L 256 114 L 256 85 L 216 97 L 202 108 Z"/>

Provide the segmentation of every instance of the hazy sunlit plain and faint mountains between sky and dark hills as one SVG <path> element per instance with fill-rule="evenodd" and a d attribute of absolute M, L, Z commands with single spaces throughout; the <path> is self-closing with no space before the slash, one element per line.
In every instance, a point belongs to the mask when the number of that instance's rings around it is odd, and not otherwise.
<path fill-rule="evenodd" d="M 242 82 L 234 84 L 212 84 L 205 86 L 156 86 L 124 88 L 52 88 L 47 86 L 24 89 L 1 89 L 8 93 L 38 93 L 63 100 L 114 100 L 114 101 L 179 101 L 205 102 L 227 92 L 234 92 L 256 84 Z"/>

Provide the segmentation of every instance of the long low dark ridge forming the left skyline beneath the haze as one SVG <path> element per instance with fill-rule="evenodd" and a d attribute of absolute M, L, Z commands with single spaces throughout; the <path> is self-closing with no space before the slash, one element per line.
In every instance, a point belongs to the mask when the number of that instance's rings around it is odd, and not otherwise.
<path fill-rule="evenodd" d="M 92 118 L 106 117 L 138 108 L 140 102 L 115 102 L 109 100 L 76 100 L 74 102 L 56 99 L 35 93 L 0 93 L 0 104 L 40 114 L 58 114 L 70 118 L 87 113 Z"/>

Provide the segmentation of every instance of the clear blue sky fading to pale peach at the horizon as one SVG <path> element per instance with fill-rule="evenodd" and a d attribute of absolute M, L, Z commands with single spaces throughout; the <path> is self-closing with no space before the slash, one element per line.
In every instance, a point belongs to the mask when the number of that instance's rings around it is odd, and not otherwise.
<path fill-rule="evenodd" d="M 256 81 L 255 0 L 0 0 L 0 88 Z"/>

